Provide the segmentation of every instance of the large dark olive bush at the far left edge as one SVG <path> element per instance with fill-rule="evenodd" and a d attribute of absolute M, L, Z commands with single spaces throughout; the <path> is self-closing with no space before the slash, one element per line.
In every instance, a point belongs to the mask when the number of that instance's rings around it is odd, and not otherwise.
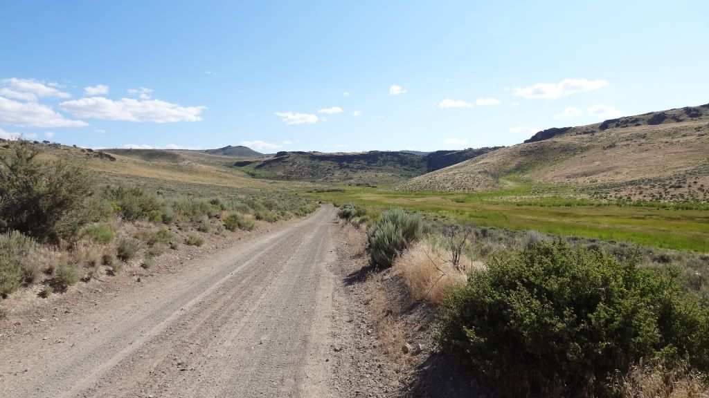
<path fill-rule="evenodd" d="M 91 176 L 65 161 L 38 161 L 30 142 L 9 145 L 0 157 L 0 231 L 20 231 L 39 241 L 77 234 L 94 210 L 86 205 Z"/>

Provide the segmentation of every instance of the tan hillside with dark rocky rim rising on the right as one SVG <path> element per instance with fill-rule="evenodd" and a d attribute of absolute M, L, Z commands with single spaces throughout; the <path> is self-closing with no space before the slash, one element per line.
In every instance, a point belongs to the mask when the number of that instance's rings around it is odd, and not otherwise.
<path fill-rule="evenodd" d="M 474 192 L 520 181 L 581 186 L 630 200 L 707 200 L 709 104 L 537 132 L 530 140 L 439 169 L 396 188 Z"/>

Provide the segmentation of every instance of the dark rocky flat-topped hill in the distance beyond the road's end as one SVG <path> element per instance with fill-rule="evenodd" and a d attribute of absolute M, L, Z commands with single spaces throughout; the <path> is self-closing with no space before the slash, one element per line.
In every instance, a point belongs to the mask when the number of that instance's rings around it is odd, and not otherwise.
<path fill-rule="evenodd" d="M 259 161 L 237 161 L 235 168 L 257 178 L 274 180 L 389 184 L 420 176 L 457 161 L 471 159 L 494 148 L 438 151 L 426 155 L 409 152 L 278 152 Z"/>

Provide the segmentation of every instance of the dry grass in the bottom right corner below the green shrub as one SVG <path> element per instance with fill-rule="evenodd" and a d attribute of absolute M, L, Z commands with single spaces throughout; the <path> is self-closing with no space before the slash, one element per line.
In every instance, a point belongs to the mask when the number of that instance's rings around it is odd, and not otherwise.
<path fill-rule="evenodd" d="M 709 386 L 700 375 L 680 366 L 668 370 L 661 366 L 647 367 L 642 363 L 622 377 L 616 391 L 625 398 L 707 398 Z"/>

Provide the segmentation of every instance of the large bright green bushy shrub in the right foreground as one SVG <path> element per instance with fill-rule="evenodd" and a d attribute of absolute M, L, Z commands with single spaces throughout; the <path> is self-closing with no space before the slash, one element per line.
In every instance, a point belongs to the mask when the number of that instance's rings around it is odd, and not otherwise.
<path fill-rule="evenodd" d="M 673 275 L 558 241 L 499 256 L 440 307 L 437 340 L 502 396 L 608 396 L 641 358 L 709 368 L 709 316 Z"/>

